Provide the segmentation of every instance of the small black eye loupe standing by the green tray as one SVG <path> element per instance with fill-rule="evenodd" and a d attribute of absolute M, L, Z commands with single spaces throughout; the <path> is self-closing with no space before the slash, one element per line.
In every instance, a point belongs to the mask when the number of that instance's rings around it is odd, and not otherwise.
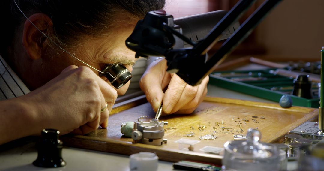
<path fill-rule="evenodd" d="M 309 75 L 298 75 L 294 80 L 293 95 L 304 98 L 313 98 L 312 80 Z"/>

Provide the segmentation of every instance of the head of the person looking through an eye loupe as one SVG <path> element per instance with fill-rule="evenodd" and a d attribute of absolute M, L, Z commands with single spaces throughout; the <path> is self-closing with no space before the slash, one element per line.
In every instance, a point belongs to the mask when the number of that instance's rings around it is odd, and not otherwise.
<path fill-rule="evenodd" d="M 2 33 L 8 51 L 1 54 L 31 90 L 69 65 L 84 65 L 56 44 L 100 71 L 113 63 L 132 71 L 135 54 L 126 48 L 125 40 L 139 19 L 165 4 L 165 0 L 15 0 L 55 44 L 23 16 L 13 0 L 4 1 L 1 16 L 8 27 Z M 118 93 L 125 93 L 128 86 Z"/>

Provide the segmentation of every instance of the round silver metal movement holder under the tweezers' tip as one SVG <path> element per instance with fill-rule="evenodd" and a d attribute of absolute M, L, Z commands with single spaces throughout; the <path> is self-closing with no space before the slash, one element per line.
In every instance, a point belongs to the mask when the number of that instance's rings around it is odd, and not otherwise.
<path fill-rule="evenodd" d="M 168 125 L 168 122 L 159 121 L 158 119 L 150 121 L 138 119 L 134 123 L 132 138 L 135 143 L 160 146 L 167 142 L 167 140 L 163 139 L 164 125 Z"/>

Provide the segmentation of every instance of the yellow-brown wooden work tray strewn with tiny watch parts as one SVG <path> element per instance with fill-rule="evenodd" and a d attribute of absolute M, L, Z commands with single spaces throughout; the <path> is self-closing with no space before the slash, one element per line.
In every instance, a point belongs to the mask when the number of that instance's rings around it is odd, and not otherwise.
<path fill-rule="evenodd" d="M 249 128 L 258 128 L 262 133 L 261 141 L 263 142 L 281 142 L 284 135 L 295 127 L 307 120 L 316 120 L 318 109 L 305 107 L 281 108 L 279 104 L 273 103 L 206 97 L 205 101 L 193 114 L 169 115 L 160 118 L 160 120 L 168 121 L 168 125 L 165 126 L 166 129 L 170 127 L 176 128 L 165 132 L 164 138 L 168 139 L 167 144 L 155 146 L 133 143 L 131 138 L 122 136 L 120 132 L 121 123 L 136 121 L 138 117 L 145 115 L 154 118 L 155 114 L 150 104 L 145 103 L 111 115 L 107 129 L 98 129 L 82 136 L 63 136 L 61 139 L 64 145 L 78 148 L 126 155 L 142 151 L 155 152 L 159 159 L 166 161 L 176 162 L 187 159 L 220 164 L 221 155 L 207 154 L 199 149 L 205 146 L 223 147 L 226 141 L 233 140 L 234 135 L 246 134 Z M 261 119 L 262 116 L 265 119 Z M 245 118 L 249 120 L 245 121 L 246 123 L 243 122 Z M 222 124 L 222 121 L 224 124 Z M 208 125 L 208 122 L 211 123 L 211 126 Z M 219 126 L 215 122 L 218 122 Z M 238 123 L 242 123 L 242 127 L 238 127 Z M 200 131 L 198 129 L 199 125 L 206 126 L 206 128 L 203 128 L 205 131 Z M 191 126 L 194 127 L 194 130 L 191 130 Z M 214 130 L 213 127 L 216 127 L 217 130 Z M 222 131 L 221 127 L 230 129 Z M 240 128 L 244 131 L 243 133 L 238 132 L 241 131 Z M 190 131 L 193 131 L 195 136 L 187 137 L 186 134 Z M 199 139 L 202 135 L 212 133 L 217 136 L 217 139 Z M 175 141 L 181 138 L 199 140 L 200 143 L 193 146 L 193 151 L 180 150 L 179 144 L 175 143 Z"/>

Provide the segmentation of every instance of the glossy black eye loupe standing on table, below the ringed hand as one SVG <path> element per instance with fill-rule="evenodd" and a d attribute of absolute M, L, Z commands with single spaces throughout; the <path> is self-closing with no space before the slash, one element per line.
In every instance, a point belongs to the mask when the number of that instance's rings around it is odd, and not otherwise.
<path fill-rule="evenodd" d="M 33 165 L 39 167 L 61 167 L 66 163 L 62 159 L 63 142 L 59 140 L 60 131 L 43 129 L 41 139 L 36 143 L 38 150 L 37 159 Z"/>

